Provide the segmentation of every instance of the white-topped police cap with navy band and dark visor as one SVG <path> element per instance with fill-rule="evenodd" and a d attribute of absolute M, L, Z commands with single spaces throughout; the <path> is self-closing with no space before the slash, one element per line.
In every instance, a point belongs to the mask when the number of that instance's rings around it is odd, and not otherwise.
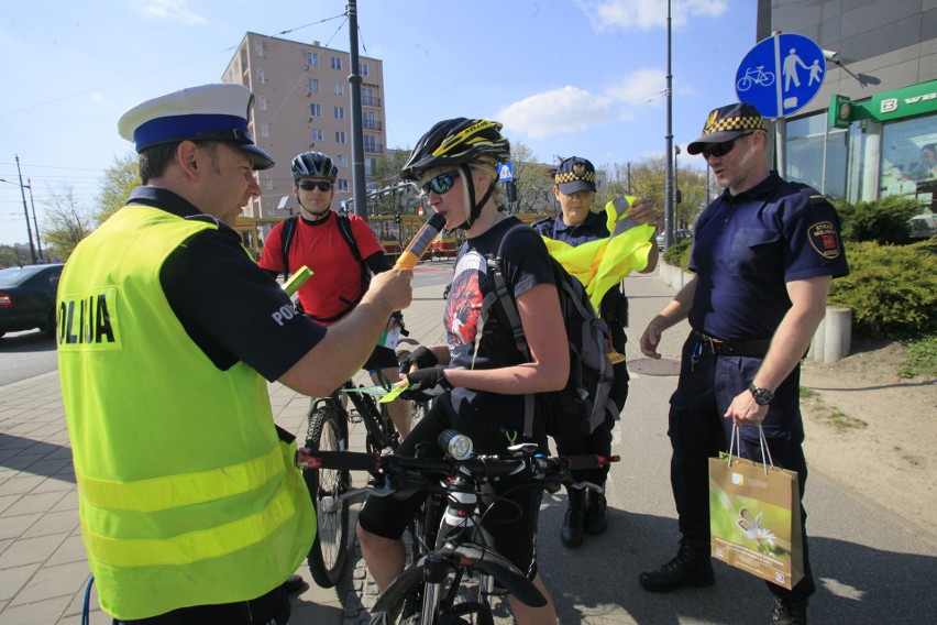
<path fill-rule="evenodd" d="M 243 85 L 219 83 L 190 87 L 136 105 L 118 121 L 118 132 L 140 152 L 176 141 L 224 141 L 246 152 L 254 169 L 274 166 L 247 130 L 254 95 Z"/>

